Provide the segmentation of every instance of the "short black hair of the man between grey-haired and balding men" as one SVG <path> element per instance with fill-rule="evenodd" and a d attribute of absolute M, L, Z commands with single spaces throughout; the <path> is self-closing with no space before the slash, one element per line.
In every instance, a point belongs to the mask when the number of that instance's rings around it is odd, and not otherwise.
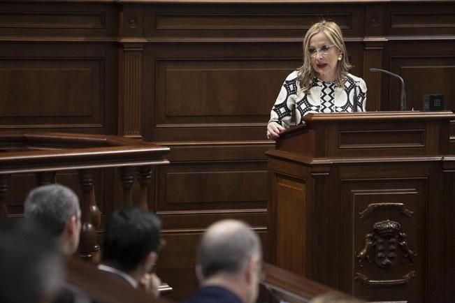
<path fill-rule="evenodd" d="M 101 262 L 132 272 L 160 244 L 161 221 L 139 207 L 121 209 L 106 223 Z"/>

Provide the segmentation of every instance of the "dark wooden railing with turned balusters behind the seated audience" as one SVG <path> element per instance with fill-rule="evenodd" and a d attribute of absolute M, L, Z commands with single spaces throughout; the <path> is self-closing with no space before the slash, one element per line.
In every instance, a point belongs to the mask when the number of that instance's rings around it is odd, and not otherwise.
<path fill-rule="evenodd" d="M 24 172 L 36 175 L 36 184 L 55 183 L 56 172 L 76 170 L 80 189 L 82 230 L 79 254 L 82 258 L 99 260 L 96 228 L 101 221 L 94 195 L 94 170 L 118 168 L 122 186 L 122 205 L 140 205 L 147 209 L 147 184 L 152 166 L 167 164 L 163 158 L 169 151 L 150 142 L 109 135 L 75 133 L 0 133 L 0 220 L 8 219 L 4 198 L 10 187 L 10 176 Z M 133 203 L 131 187 L 136 179 L 140 198 Z"/>

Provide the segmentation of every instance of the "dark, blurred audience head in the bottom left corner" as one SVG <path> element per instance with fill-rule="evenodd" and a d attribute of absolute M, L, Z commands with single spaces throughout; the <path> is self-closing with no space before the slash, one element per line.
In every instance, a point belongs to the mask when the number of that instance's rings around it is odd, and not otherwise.
<path fill-rule="evenodd" d="M 51 302 L 64 279 L 55 239 L 31 223 L 0 226 L 0 302 Z"/>

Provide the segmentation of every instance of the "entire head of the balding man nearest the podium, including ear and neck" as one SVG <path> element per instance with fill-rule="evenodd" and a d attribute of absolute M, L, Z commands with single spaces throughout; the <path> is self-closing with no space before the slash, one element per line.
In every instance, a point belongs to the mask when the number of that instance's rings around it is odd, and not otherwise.
<path fill-rule="evenodd" d="M 261 262 L 256 232 L 241 221 L 223 220 L 204 233 L 196 269 L 202 286 L 227 288 L 243 303 L 252 303 L 258 295 Z"/>

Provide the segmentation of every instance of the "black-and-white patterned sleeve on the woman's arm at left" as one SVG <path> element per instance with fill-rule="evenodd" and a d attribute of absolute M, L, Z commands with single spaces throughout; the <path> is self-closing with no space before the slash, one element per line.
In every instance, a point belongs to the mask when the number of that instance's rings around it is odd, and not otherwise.
<path fill-rule="evenodd" d="M 268 123 L 276 122 L 284 128 L 291 126 L 292 112 L 296 104 L 297 94 L 297 79 L 294 73 L 291 73 L 282 84 L 280 94 L 278 94 L 277 100 L 270 111 Z"/>

